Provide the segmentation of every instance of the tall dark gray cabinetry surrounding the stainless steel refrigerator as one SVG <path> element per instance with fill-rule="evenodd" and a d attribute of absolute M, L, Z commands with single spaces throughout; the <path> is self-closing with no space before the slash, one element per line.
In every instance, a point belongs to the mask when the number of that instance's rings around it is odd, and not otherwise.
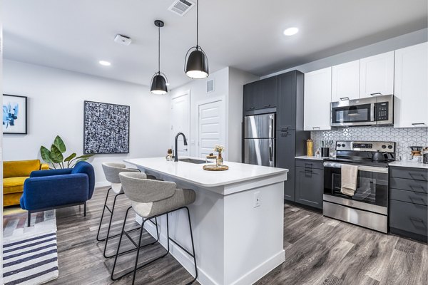
<path fill-rule="evenodd" d="M 290 71 L 244 86 L 243 115 L 276 112 L 275 166 L 290 170 L 284 199 L 295 201 L 295 157 L 305 155 L 310 132 L 303 131 L 304 74 Z M 244 159 L 243 159 L 244 160 Z"/>

